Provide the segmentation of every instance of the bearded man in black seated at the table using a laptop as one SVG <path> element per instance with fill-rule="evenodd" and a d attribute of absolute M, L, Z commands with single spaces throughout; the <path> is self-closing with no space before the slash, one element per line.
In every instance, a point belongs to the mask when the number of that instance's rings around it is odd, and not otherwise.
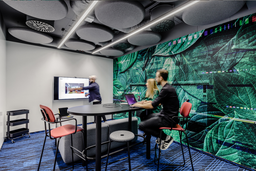
<path fill-rule="evenodd" d="M 175 89 L 167 83 L 168 71 L 165 69 L 159 69 L 156 72 L 156 82 L 162 86 L 159 96 L 152 101 L 142 101 L 135 103 L 133 106 L 142 107 L 145 109 L 153 109 L 162 104 L 163 108 L 160 113 L 151 113 L 146 116 L 145 120 L 140 122 L 139 128 L 146 134 L 157 137 L 157 144 L 160 144 L 160 132 L 161 127 L 171 127 L 172 117 L 178 116 L 179 113 L 179 100 Z M 179 119 L 173 119 L 173 125 L 178 124 Z M 173 138 L 162 132 L 161 149 L 167 149 Z"/>

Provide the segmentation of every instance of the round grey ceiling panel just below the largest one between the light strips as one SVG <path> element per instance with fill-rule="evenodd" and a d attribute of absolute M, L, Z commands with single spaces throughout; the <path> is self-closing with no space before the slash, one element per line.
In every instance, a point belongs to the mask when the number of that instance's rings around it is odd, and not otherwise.
<path fill-rule="evenodd" d="M 90 42 L 106 42 L 114 37 L 114 33 L 100 25 L 81 25 L 76 29 L 77 35 Z"/>

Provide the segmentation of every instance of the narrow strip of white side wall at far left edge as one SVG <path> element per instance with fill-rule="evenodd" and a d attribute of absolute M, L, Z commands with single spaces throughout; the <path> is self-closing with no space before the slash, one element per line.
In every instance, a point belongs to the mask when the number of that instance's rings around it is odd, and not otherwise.
<path fill-rule="evenodd" d="M 1 12 L 0 12 L 1 13 Z M 4 33 L 0 27 L 0 148 L 4 141 L 4 137 L 6 136 L 5 128 L 6 128 L 6 39 Z"/>

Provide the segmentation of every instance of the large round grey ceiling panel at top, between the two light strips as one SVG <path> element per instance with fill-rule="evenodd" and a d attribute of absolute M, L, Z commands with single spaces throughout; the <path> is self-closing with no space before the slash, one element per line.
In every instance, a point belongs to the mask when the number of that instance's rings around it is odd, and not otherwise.
<path fill-rule="evenodd" d="M 145 17 L 145 8 L 138 1 L 99 1 L 94 12 L 101 23 L 118 29 L 133 27 Z"/>

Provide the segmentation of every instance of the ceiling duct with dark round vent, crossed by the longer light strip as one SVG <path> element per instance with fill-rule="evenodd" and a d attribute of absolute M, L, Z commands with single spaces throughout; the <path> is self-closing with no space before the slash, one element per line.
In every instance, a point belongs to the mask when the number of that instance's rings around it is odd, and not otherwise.
<path fill-rule="evenodd" d="M 153 19 L 165 14 L 166 12 L 169 12 L 173 9 L 172 5 L 159 5 L 151 10 L 151 17 L 150 21 Z M 169 18 L 166 18 L 165 20 L 162 20 L 155 25 L 152 25 L 150 27 L 151 30 L 154 32 L 164 32 L 167 30 L 170 30 L 174 28 L 175 23 L 174 23 L 174 16 L 171 16 Z"/>

